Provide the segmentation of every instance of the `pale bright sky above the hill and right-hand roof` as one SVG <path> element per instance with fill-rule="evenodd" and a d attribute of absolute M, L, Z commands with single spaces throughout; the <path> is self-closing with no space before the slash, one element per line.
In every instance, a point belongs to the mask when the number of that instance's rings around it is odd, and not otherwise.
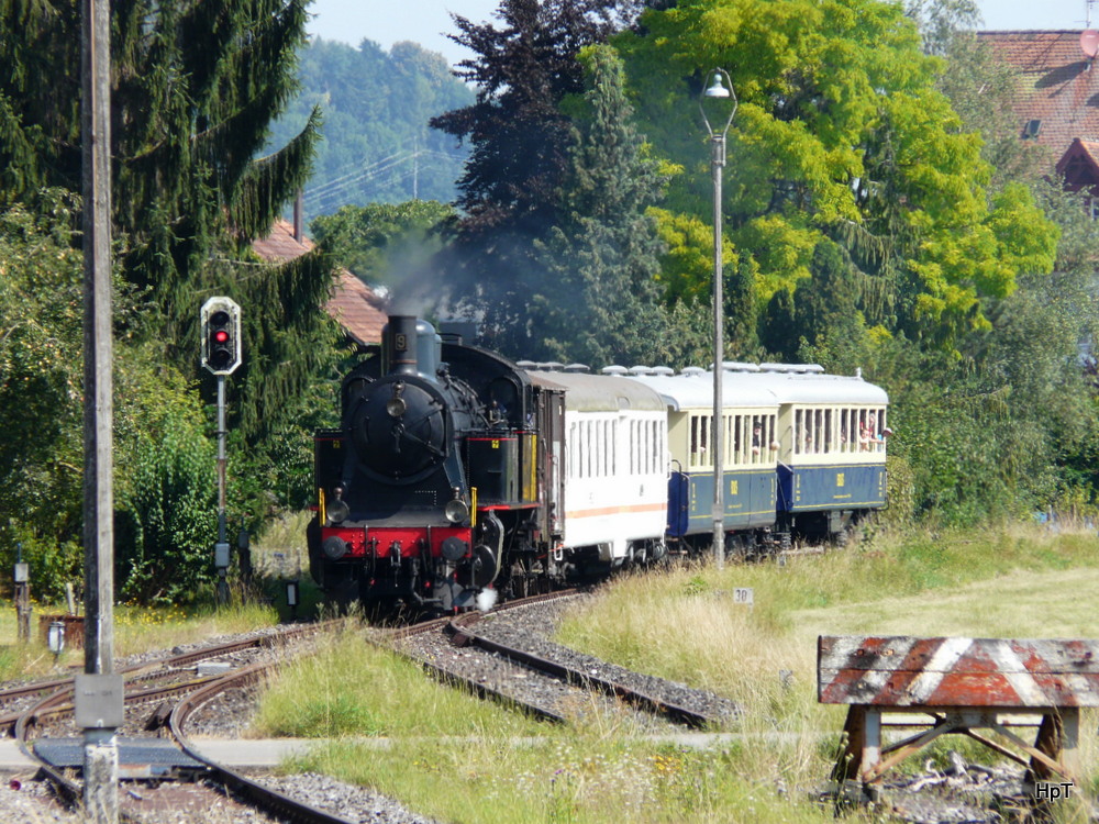
<path fill-rule="evenodd" d="M 1087 0 L 978 0 L 985 29 L 1083 29 Z M 402 40 L 440 52 L 454 64 L 469 57 L 444 32 L 455 32 L 451 12 L 477 23 L 492 20 L 499 0 L 314 0 L 311 34 L 357 46 L 364 38 L 389 48 Z M 1099 1 L 1091 20 L 1099 27 Z"/>

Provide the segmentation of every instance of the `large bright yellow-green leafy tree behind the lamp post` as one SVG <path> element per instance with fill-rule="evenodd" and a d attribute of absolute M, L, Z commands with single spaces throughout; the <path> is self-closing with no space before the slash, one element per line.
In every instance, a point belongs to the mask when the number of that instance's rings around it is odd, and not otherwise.
<path fill-rule="evenodd" d="M 940 64 L 899 5 L 693 0 L 645 12 L 613 42 L 642 127 L 689 172 L 673 183 L 673 211 L 708 211 L 702 130 L 684 115 L 704 70 L 729 68 L 740 108 L 725 227 L 758 266 L 762 301 L 808 277 L 828 236 L 886 281 L 910 334 L 950 347 L 987 327 L 981 301 L 1012 291 L 1020 244 L 1040 249 L 1031 268 L 1050 270 L 1055 231 L 1025 198 L 989 202 L 979 138 L 934 88 Z"/>

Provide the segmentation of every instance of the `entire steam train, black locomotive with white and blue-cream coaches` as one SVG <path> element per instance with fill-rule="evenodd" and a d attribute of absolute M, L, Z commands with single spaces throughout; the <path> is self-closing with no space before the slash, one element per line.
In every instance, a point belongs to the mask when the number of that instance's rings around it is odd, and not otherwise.
<path fill-rule="evenodd" d="M 724 364 L 724 528 L 764 553 L 886 503 L 886 393 Z M 310 572 L 337 603 L 487 610 L 713 530 L 713 372 L 515 364 L 393 315 L 314 437 Z"/>

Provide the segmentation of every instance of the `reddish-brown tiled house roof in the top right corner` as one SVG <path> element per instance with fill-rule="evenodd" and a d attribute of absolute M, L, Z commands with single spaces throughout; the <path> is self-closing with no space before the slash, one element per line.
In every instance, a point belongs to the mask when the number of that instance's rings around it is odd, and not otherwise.
<path fill-rule="evenodd" d="M 1019 136 L 1061 158 L 1074 140 L 1099 141 L 1099 66 L 1080 48 L 1080 30 L 978 32 L 996 55 L 1017 67 Z M 1039 121 L 1036 135 L 1028 125 Z"/>

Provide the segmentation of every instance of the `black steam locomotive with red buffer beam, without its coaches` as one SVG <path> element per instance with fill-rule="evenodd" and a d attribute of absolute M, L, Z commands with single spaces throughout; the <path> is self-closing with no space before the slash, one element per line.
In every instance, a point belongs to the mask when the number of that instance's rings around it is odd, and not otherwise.
<path fill-rule="evenodd" d="M 546 402 L 507 359 L 390 318 L 343 381 L 341 428 L 315 437 L 314 580 L 337 602 L 440 612 L 546 586 L 562 571 L 535 472 Z"/>

